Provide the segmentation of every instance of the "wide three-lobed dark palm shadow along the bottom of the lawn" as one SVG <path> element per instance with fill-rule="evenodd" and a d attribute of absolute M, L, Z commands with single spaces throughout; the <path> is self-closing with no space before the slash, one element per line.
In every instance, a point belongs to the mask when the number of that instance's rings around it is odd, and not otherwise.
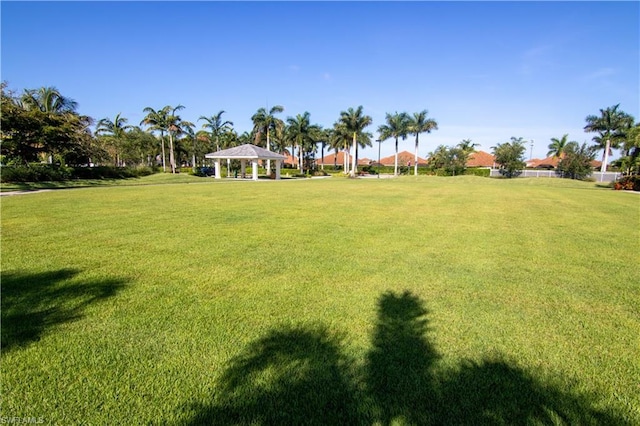
<path fill-rule="evenodd" d="M 274 330 L 232 361 L 210 404 L 190 407 L 189 424 L 629 423 L 505 360 L 439 369 L 427 314 L 410 292 L 384 293 L 362 368 L 325 329 Z"/>

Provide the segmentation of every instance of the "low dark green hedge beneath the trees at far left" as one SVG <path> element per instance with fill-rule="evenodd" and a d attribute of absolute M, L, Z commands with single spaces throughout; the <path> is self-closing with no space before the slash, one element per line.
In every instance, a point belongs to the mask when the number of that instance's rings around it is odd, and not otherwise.
<path fill-rule="evenodd" d="M 126 179 L 155 173 L 151 167 L 68 167 L 51 164 L 2 166 L 0 182 L 58 182 L 73 179 Z"/>

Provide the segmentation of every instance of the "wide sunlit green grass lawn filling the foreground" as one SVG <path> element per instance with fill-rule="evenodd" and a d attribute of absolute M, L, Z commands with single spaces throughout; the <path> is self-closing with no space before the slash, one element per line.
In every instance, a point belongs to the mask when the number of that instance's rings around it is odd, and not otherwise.
<path fill-rule="evenodd" d="M 2 418 L 640 424 L 637 194 L 154 179 L 2 198 Z"/>

